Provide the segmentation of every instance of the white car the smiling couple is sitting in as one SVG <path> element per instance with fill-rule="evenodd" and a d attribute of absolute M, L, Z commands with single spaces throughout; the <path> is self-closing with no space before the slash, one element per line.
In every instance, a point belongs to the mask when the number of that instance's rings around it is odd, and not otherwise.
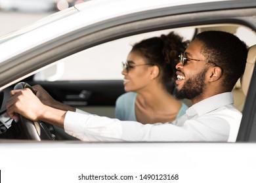
<path fill-rule="evenodd" d="M 243 178 L 253 182 L 255 14 L 253 0 L 95 0 L 0 37 L 0 151 L 8 156 L 1 165 L 10 170 L 15 161 L 19 169 L 15 171 L 17 176 L 11 176 L 11 171 L 3 174 L 11 182 L 28 172 L 33 176 L 26 182 L 39 177 L 45 182 L 47 178 L 41 177 L 41 170 L 51 175 L 52 181 L 69 182 L 84 180 L 84 175 L 114 173 L 133 175 L 137 181 L 169 175 L 169 180 L 180 178 L 181 182 L 191 182 L 190 178 L 192 182 L 231 182 Z M 5 113 L 9 92 L 17 84 L 40 84 L 62 103 L 114 118 L 116 99 L 125 92 L 121 61 L 126 59 L 131 44 L 169 31 L 192 40 L 197 33 L 209 29 L 234 33 L 246 42 L 249 50 L 245 73 L 232 91 L 235 105 L 243 113 L 235 143 L 88 143 L 45 124 L 39 124 L 41 131 L 46 129 L 46 135 L 40 137 L 38 128 L 32 126 L 33 132 L 30 127 L 25 130 L 23 123 L 11 120 Z M 191 105 L 188 100 L 184 102 Z"/>

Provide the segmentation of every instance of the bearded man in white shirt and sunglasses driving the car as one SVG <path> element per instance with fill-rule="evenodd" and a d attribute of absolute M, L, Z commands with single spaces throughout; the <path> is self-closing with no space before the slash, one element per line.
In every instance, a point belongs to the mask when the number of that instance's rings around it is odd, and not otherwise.
<path fill-rule="evenodd" d="M 6 105 L 16 114 L 58 125 L 82 141 L 211 141 L 235 142 L 242 114 L 234 107 L 231 93 L 244 73 L 247 48 L 236 36 L 222 31 L 206 31 L 196 36 L 177 64 L 179 99 L 192 100 L 192 107 L 174 122 L 140 124 L 123 122 L 86 112 L 79 113 L 35 86 L 14 90 Z"/>

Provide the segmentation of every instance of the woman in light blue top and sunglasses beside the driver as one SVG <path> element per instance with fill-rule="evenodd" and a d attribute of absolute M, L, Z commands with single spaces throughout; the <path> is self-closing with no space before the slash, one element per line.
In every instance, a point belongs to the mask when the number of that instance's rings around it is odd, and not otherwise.
<path fill-rule="evenodd" d="M 125 92 L 116 101 L 116 118 L 142 124 L 172 122 L 188 108 L 168 91 L 175 65 L 188 41 L 171 32 L 135 44 L 123 63 Z"/>

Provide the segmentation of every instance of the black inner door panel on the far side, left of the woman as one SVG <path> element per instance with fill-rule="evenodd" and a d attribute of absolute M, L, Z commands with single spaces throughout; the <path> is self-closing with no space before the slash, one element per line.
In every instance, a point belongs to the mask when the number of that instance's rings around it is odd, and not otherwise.
<path fill-rule="evenodd" d="M 96 110 L 108 114 L 104 110 L 113 110 L 117 97 L 125 92 L 121 80 L 31 81 L 30 84 L 40 84 L 57 101 L 81 110 L 91 108 L 96 114 L 100 114 Z"/>

